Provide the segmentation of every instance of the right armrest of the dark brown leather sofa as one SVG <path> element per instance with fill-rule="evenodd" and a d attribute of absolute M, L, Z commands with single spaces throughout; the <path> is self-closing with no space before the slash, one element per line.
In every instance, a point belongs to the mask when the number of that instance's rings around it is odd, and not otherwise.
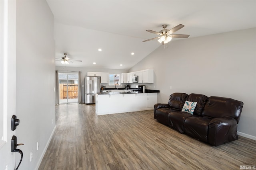
<path fill-rule="evenodd" d="M 237 121 L 232 117 L 214 118 L 208 124 L 208 143 L 219 146 L 237 140 Z"/>

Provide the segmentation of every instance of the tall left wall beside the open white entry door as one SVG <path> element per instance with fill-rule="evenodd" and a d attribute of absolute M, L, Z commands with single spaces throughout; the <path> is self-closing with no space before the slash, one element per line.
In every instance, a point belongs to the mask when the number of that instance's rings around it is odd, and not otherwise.
<path fill-rule="evenodd" d="M 45 0 L 18 0 L 16 12 L 16 136 L 24 143 L 19 170 L 34 170 L 55 127 L 54 18 Z"/>

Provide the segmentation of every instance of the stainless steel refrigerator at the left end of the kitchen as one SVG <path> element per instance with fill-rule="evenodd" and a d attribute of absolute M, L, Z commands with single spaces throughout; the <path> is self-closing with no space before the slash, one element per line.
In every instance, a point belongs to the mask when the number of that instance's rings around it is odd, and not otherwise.
<path fill-rule="evenodd" d="M 85 104 L 95 104 L 95 95 L 100 92 L 100 77 L 86 76 L 84 81 Z"/>

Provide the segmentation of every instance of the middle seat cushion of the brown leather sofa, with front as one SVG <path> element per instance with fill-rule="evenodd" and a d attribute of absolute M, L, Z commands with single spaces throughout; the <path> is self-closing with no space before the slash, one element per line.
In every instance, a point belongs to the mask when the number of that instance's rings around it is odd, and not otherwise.
<path fill-rule="evenodd" d="M 184 133 L 184 121 L 190 116 L 193 115 L 182 111 L 170 112 L 168 115 L 169 125 L 180 133 Z"/>

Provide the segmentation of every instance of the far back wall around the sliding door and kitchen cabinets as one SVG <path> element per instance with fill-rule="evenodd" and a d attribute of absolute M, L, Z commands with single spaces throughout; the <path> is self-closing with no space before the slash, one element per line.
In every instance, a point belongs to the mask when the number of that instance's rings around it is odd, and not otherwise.
<path fill-rule="evenodd" d="M 128 70 L 117 70 L 117 69 L 105 69 L 105 68 L 82 68 L 82 67 L 66 67 L 66 66 L 56 66 L 56 70 L 61 71 L 81 71 L 81 85 L 84 86 L 84 77 L 87 76 L 87 72 L 109 72 L 109 73 L 126 73 Z M 113 86 L 108 86 L 108 83 L 102 83 L 101 85 L 107 88 L 113 88 Z M 124 84 L 119 86 L 124 88 Z M 82 87 L 82 102 L 84 103 L 84 87 Z"/>

